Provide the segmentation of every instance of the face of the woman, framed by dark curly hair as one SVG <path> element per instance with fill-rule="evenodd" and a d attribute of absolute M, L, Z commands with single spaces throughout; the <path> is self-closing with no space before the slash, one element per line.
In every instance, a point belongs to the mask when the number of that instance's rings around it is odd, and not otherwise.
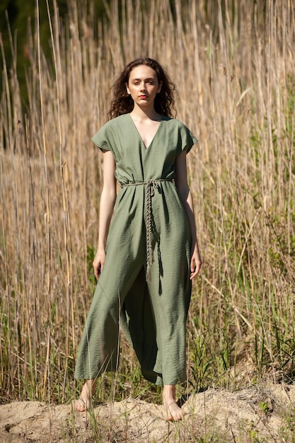
<path fill-rule="evenodd" d="M 162 82 L 158 82 L 158 77 L 154 69 L 141 64 L 132 69 L 129 74 L 129 81 L 126 84 L 134 103 L 140 106 L 154 104 L 156 93 L 161 91 Z"/>

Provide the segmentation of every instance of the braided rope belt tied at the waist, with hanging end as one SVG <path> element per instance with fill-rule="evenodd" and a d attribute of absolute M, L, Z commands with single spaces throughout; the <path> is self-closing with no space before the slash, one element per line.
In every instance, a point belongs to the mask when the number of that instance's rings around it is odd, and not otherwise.
<path fill-rule="evenodd" d="M 170 178 L 156 178 L 143 182 L 133 183 L 120 183 L 122 188 L 129 186 L 146 185 L 146 281 L 151 280 L 151 264 L 154 262 L 154 253 L 152 247 L 152 226 L 153 226 L 153 213 L 151 210 L 151 198 L 155 193 L 155 189 L 158 189 L 158 182 L 172 181 Z"/>

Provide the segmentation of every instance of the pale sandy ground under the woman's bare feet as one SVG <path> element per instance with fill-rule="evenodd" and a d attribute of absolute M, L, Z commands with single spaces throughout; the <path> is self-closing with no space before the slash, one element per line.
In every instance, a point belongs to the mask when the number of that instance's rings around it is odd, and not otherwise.
<path fill-rule="evenodd" d="M 0 405 L 0 443 L 295 442 L 295 385 L 208 389 L 183 404 L 181 422 L 159 405 L 129 398 L 76 413 L 71 405 Z"/>

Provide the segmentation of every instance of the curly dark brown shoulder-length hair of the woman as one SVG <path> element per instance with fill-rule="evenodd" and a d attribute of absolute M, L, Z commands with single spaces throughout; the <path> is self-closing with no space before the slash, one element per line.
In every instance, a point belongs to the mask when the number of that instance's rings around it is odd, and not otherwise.
<path fill-rule="evenodd" d="M 149 57 L 143 57 L 135 59 L 127 64 L 113 84 L 113 98 L 110 102 L 110 110 L 108 111 L 109 120 L 122 114 L 131 113 L 133 110 L 134 101 L 127 93 L 126 84 L 129 81 L 129 75 L 132 69 L 141 66 L 142 64 L 154 69 L 157 74 L 158 82 L 162 82 L 161 91 L 157 93 L 154 101 L 156 112 L 160 115 L 166 115 L 167 117 L 175 117 L 177 114 L 174 100 L 175 84 L 170 80 L 170 77 L 161 67 L 161 64 Z"/>

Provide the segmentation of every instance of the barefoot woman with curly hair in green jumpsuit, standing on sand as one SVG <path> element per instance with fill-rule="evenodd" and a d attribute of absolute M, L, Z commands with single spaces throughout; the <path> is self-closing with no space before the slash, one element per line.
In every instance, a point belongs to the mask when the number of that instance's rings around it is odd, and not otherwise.
<path fill-rule="evenodd" d="M 121 326 L 144 377 L 163 384 L 168 420 L 183 418 L 175 384 L 185 381 L 185 322 L 202 262 L 186 171 L 197 140 L 172 118 L 173 90 L 158 62 L 135 59 L 113 86 L 110 120 L 93 137 L 104 153 L 103 191 L 98 284 L 75 370 L 86 379 L 79 411 L 91 404 L 97 377 L 117 368 Z"/>

